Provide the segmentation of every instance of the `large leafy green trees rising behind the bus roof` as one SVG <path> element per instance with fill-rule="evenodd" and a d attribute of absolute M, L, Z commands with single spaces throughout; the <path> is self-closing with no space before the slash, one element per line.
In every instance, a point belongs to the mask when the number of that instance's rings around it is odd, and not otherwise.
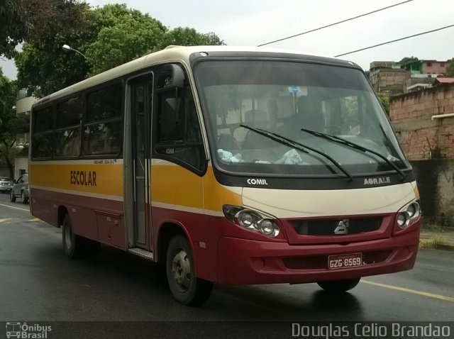
<path fill-rule="evenodd" d="M 37 97 L 167 45 L 223 45 L 214 33 L 197 33 L 194 28 L 168 30 L 160 21 L 128 9 L 126 4 L 92 9 L 76 3 L 73 10 L 77 10 L 77 25 L 56 21 L 47 32 L 27 40 L 15 59 L 18 82 Z M 64 44 L 87 58 L 74 51 L 65 52 Z"/>

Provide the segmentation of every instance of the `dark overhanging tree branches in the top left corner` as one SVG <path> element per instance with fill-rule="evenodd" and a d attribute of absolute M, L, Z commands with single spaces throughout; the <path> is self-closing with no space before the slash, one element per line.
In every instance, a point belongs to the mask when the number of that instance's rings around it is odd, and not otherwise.
<path fill-rule="evenodd" d="M 16 45 L 48 32 L 59 23 L 75 27 L 80 21 L 76 0 L 3 0 L 0 3 L 0 55 L 11 59 Z"/>

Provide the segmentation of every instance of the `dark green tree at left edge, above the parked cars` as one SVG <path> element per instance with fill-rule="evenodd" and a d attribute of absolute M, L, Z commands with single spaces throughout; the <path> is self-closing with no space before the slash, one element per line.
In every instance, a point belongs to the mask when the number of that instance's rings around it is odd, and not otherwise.
<path fill-rule="evenodd" d="M 16 146 L 16 134 L 28 130 L 28 121 L 16 117 L 16 82 L 11 82 L 0 69 L 0 161 L 9 167 L 14 176 L 14 158 L 20 151 Z"/>

